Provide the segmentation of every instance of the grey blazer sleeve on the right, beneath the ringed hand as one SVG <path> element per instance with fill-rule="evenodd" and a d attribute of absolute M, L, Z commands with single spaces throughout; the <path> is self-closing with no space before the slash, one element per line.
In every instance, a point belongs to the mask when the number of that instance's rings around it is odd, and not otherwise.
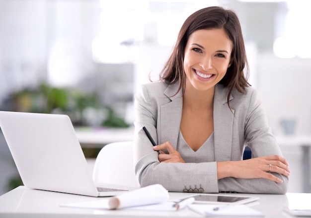
<path fill-rule="evenodd" d="M 255 89 L 249 91 L 251 91 L 251 94 L 248 109 L 245 110 L 247 112 L 241 126 L 244 125 L 244 137 L 247 145 L 251 148 L 252 158 L 274 154 L 282 156 L 281 149 L 268 125 L 259 92 Z M 227 177 L 219 180 L 219 190 L 241 193 L 285 194 L 289 178 L 274 172 L 272 174 L 279 177 L 283 183 L 276 183 L 263 178 L 239 179 Z"/>

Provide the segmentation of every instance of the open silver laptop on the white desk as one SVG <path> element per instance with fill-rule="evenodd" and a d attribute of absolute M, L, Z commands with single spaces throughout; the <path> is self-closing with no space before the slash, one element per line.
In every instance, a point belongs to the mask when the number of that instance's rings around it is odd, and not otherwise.
<path fill-rule="evenodd" d="M 0 127 L 24 186 L 107 197 L 133 187 L 96 187 L 67 115 L 0 111 Z"/>

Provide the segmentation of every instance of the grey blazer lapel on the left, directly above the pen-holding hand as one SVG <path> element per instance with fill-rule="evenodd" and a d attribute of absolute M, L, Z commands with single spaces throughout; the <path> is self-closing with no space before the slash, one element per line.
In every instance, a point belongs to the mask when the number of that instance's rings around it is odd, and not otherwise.
<path fill-rule="evenodd" d="M 175 148 L 177 145 L 182 115 L 182 90 L 176 93 L 178 82 L 168 85 L 163 92 L 171 101 L 161 106 L 161 138 L 160 142 L 169 141 Z"/>

